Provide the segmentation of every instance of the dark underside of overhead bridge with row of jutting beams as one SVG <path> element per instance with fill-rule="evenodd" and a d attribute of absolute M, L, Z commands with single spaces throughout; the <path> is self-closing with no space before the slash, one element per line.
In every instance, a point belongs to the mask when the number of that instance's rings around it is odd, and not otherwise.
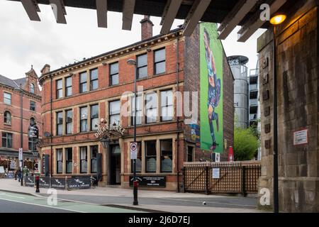
<path fill-rule="evenodd" d="M 161 33 L 168 33 L 175 18 L 185 20 L 184 35 L 194 31 L 198 21 L 221 23 L 220 39 L 228 37 L 235 26 L 242 26 L 239 41 L 245 42 L 267 21 L 260 20 L 262 4 L 269 4 L 275 13 L 291 0 L 9 0 L 21 1 L 28 16 L 40 21 L 38 4 L 51 4 L 57 23 L 66 23 L 65 6 L 95 9 L 98 26 L 107 27 L 107 11 L 123 13 L 123 29 L 130 30 L 133 14 L 162 17 Z M 96 7 L 97 6 L 97 7 Z"/>

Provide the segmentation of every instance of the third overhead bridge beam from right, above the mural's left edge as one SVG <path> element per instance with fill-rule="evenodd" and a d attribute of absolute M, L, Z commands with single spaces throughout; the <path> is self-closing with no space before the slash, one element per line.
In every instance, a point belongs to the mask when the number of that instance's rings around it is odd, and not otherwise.
<path fill-rule="evenodd" d="M 197 23 L 203 17 L 206 9 L 208 8 L 209 4 L 211 4 L 211 0 L 195 0 L 193 6 L 191 6 L 191 10 L 189 14 L 186 16 L 185 23 L 184 23 L 184 35 L 191 36 L 194 32 Z"/>

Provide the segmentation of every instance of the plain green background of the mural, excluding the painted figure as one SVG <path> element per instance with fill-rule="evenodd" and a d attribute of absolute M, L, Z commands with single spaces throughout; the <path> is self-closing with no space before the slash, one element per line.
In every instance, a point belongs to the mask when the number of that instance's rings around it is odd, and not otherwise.
<path fill-rule="evenodd" d="M 214 112 L 218 114 L 219 131 L 217 131 L 216 120 L 213 120 L 214 134 L 216 138 L 216 150 L 212 150 L 213 139 L 208 117 L 208 63 L 206 60 L 206 48 L 204 43 L 204 31 L 208 32 L 210 48 L 213 52 L 217 79 L 220 79 L 220 100 Z M 215 153 L 223 153 L 223 45 L 218 40 L 216 23 L 200 23 L 200 77 L 201 77 L 201 149 L 211 150 Z"/>

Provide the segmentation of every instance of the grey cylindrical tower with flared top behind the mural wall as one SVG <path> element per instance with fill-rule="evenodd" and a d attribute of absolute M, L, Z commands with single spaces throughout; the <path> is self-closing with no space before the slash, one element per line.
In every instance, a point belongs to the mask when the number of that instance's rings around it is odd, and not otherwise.
<path fill-rule="evenodd" d="M 246 67 L 248 57 L 230 56 L 228 62 L 233 72 L 234 83 L 234 104 L 235 104 L 235 127 L 248 128 L 249 121 L 249 88 L 248 70 Z"/>

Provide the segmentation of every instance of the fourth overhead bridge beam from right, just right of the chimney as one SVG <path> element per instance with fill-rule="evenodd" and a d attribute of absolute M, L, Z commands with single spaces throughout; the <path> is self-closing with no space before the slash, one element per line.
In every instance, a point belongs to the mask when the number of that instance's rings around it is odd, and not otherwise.
<path fill-rule="evenodd" d="M 179 7 L 181 6 L 181 2 L 182 0 L 167 1 L 162 15 L 162 21 L 160 23 L 160 25 L 162 25 L 160 33 L 162 35 L 169 33 L 169 31 L 171 30 L 174 19 L 176 18 Z"/>

